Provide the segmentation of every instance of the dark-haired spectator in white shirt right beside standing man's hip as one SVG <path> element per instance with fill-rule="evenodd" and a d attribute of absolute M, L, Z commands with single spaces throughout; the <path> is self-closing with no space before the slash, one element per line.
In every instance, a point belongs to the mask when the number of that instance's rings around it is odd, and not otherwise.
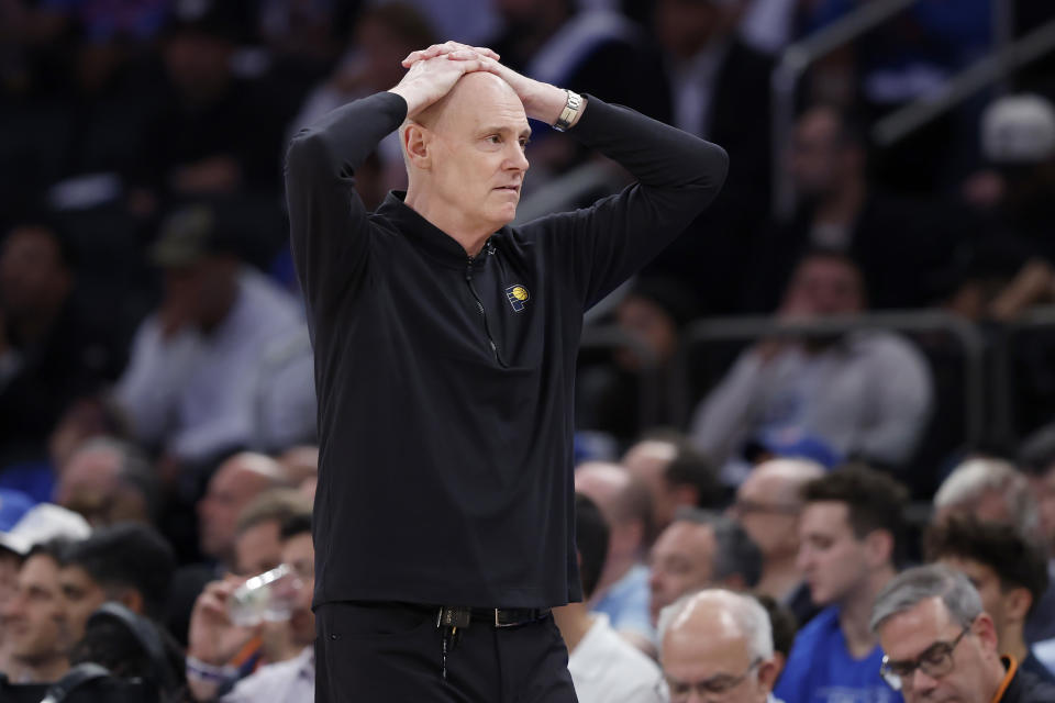
<path fill-rule="evenodd" d="M 582 577 L 582 598 L 589 600 L 608 553 L 608 524 L 585 495 L 575 501 L 575 535 Z M 568 671 L 579 703 L 648 703 L 659 670 L 620 637 L 603 613 L 590 613 L 586 603 L 554 609 L 553 620 L 568 647 Z"/>

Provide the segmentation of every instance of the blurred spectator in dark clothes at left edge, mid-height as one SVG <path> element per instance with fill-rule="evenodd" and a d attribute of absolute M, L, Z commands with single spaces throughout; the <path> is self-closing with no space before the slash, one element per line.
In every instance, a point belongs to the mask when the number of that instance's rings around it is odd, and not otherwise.
<path fill-rule="evenodd" d="M 75 286 L 73 250 L 53 225 L 26 221 L 8 231 L 0 244 L 0 470 L 42 462 L 67 405 L 113 373 L 110 350 L 77 310 Z M 46 471 L 36 482 L 27 492 L 47 500 Z"/>

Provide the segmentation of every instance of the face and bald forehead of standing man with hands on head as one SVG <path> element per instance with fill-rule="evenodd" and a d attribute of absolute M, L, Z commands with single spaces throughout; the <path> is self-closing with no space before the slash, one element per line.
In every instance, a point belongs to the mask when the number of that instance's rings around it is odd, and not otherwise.
<path fill-rule="evenodd" d="M 467 231 L 497 231 L 517 216 L 531 127 L 524 105 L 492 74 L 463 77 L 430 129 L 426 198 Z"/>

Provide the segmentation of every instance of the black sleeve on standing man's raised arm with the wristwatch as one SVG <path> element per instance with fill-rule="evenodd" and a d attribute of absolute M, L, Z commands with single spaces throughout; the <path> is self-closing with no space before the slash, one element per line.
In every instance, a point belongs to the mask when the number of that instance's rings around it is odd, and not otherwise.
<path fill-rule="evenodd" d="M 548 215 L 522 227 L 526 237 L 554 236 L 573 267 L 585 308 L 591 306 L 673 242 L 714 199 L 729 156 L 629 108 L 587 96 L 568 131 L 584 146 L 620 164 L 637 180 L 591 208 Z"/>

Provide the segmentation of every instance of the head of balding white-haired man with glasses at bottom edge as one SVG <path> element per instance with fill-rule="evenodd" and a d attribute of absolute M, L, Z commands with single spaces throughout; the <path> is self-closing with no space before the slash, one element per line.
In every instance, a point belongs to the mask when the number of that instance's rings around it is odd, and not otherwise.
<path fill-rule="evenodd" d="M 665 607 L 659 665 L 670 703 L 780 703 L 769 615 L 749 595 L 707 589 Z"/>

